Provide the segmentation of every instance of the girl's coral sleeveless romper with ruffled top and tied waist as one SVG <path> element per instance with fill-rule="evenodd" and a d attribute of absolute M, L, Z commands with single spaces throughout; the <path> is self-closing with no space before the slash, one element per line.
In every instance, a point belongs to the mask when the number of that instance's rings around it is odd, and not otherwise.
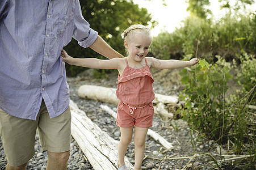
<path fill-rule="evenodd" d="M 149 128 L 152 126 L 154 108 L 153 76 L 148 66 L 140 69 L 127 66 L 123 74 L 118 75 L 116 96 L 120 100 L 117 106 L 116 125 L 122 128 L 138 126 Z"/>

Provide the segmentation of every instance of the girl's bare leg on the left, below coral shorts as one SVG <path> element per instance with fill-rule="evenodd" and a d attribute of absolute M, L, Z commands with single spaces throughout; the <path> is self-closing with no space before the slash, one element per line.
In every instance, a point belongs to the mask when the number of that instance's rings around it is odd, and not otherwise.
<path fill-rule="evenodd" d="M 124 165 L 124 155 L 126 154 L 127 147 L 132 141 L 133 126 L 129 128 L 120 128 L 121 138 L 118 144 L 118 166 Z"/>

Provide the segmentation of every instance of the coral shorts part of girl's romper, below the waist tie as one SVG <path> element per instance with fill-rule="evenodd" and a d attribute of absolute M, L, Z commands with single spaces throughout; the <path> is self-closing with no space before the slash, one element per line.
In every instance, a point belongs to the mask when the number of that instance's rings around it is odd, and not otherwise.
<path fill-rule="evenodd" d="M 147 104 L 142 108 L 135 108 L 131 113 L 131 107 L 123 101 L 119 101 L 117 106 L 116 125 L 121 128 L 128 128 L 133 125 L 140 128 L 149 128 L 152 126 L 154 117 L 153 103 Z"/>

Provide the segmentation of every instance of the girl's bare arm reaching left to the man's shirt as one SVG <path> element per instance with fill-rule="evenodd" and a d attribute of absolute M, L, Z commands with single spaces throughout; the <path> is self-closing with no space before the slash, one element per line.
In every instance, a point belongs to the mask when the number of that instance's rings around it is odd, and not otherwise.
<path fill-rule="evenodd" d="M 122 58 L 98 59 L 98 58 L 73 58 L 64 49 L 61 51 L 62 61 L 70 65 L 89 67 L 94 69 L 118 69 Z"/>

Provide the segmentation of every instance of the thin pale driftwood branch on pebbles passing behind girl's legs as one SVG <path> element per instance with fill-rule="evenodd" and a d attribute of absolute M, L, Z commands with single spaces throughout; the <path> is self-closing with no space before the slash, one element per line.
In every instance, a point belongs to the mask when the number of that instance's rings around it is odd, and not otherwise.
<path fill-rule="evenodd" d="M 110 114 L 112 117 L 116 118 L 117 113 L 114 112 L 110 107 L 108 107 L 107 105 L 100 105 L 100 108 L 102 108 L 104 111 L 106 111 L 108 114 Z M 167 149 L 169 148 L 173 148 L 173 145 L 171 145 L 170 142 L 166 141 L 163 137 L 161 137 L 161 135 L 159 135 L 158 133 L 156 133 L 155 131 L 149 129 L 148 130 L 148 135 L 150 137 L 152 137 L 155 141 L 158 141 L 159 143 L 161 143 L 161 145 Z"/>

